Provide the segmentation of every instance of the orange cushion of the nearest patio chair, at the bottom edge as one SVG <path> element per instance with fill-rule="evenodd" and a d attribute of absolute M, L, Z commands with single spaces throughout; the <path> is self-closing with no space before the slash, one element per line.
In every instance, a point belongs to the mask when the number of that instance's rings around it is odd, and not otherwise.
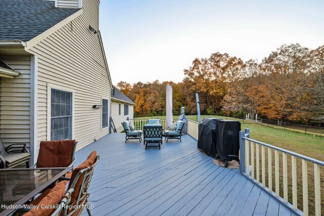
<path fill-rule="evenodd" d="M 62 197 L 65 194 L 66 183 L 67 183 L 67 181 L 62 181 L 62 182 L 57 183 L 55 185 L 55 187 L 52 188 L 45 197 L 43 197 L 41 200 L 39 200 L 39 202 L 37 204 L 38 209 L 33 208 L 30 211 L 28 211 L 27 213 L 25 213 L 24 215 L 27 215 L 27 216 L 29 216 L 29 215 L 30 216 L 31 215 L 32 216 L 51 215 L 56 210 L 55 208 L 46 208 L 46 207 L 42 208 L 41 206 L 51 206 L 51 205 L 59 204 Z M 36 199 L 34 201 L 36 201 Z"/>

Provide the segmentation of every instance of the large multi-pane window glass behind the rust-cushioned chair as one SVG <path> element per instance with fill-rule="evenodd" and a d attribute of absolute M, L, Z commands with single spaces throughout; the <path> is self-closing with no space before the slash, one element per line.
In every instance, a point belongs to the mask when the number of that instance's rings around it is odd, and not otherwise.
<path fill-rule="evenodd" d="M 51 140 L 72 139 L 72 93 L 51 90 Z"/>

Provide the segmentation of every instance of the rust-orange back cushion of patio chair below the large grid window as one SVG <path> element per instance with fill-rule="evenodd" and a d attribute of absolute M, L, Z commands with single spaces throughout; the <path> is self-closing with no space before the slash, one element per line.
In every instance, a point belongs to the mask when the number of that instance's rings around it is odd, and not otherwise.
<path fill-rule="evenodd" d="M 67 167 L 72 163 L 75 140 L 42 141 L 37 167 Z"/>

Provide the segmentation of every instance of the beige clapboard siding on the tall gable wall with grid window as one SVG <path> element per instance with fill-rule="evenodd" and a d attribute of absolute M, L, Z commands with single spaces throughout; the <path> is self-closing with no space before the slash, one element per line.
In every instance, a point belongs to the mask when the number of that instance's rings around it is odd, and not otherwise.
<path fill-rule="evenodd" d="M 74 92 L 74 138 L 77 150 L 109 133 L 101 129 L 101 98 L 110 100 L 110 80 L 98 34 L 98 0 L 83 1 L 84 13 L 29 52 L 38 56 L 38 145 L 48 137 L 48 84 Z M 28 42 L 27 42 L 28 43 Z M 109 113 L 109 112 L 108 112 Z"/>

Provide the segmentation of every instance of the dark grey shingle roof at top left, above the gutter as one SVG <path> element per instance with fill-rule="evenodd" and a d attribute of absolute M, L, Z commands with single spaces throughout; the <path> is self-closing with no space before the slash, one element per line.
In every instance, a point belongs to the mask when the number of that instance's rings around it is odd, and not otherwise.
<path fill-rule="evenodd" d="M 55 8 L 54 3 L 0 0 L 0 40 L 28 41 L 80 10 Z"/>

